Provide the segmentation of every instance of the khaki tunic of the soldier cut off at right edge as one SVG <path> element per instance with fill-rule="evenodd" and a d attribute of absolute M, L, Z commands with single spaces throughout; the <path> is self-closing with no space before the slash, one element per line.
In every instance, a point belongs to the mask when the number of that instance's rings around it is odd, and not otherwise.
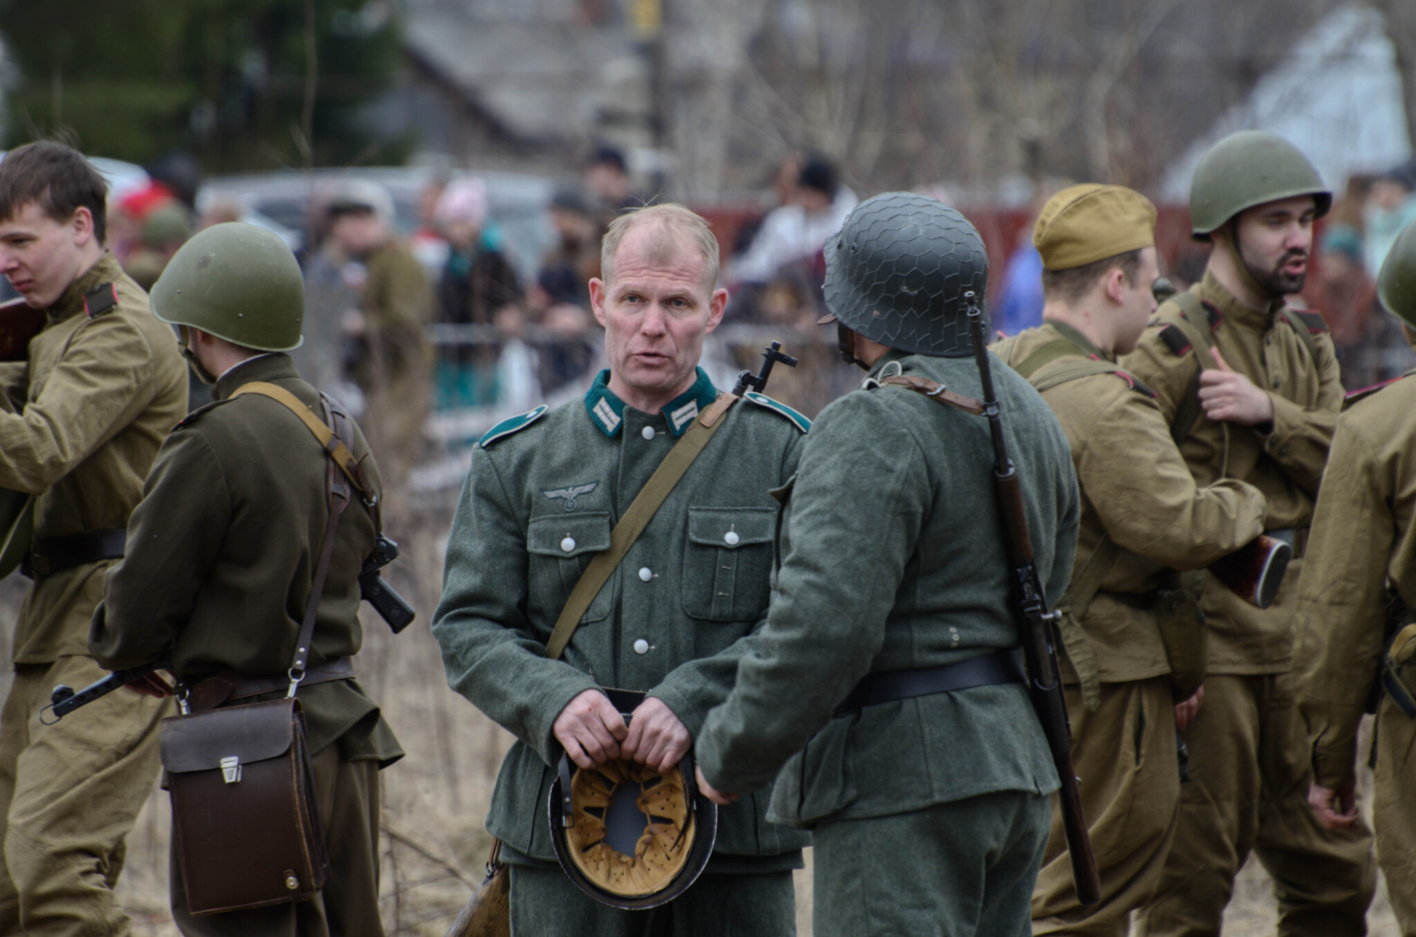
<path fill-rule="evenodd" d="M 1359 401 L 1338 420 L 1298 592 L 1293 668 L 1318 784 L 1352 778 L 1357 728 L 1385 650 L 1386 585 L 1416 609 L 1416 379 Z M 1382 699 L 1396 722 L 1410 725 Z M 1383 722 L 1378 732 L 1386 729 Z M 1378 767 L 1398 771 L 1400 764 Z M 1408 771 L 1408 776 L 1409 771 Z"/>

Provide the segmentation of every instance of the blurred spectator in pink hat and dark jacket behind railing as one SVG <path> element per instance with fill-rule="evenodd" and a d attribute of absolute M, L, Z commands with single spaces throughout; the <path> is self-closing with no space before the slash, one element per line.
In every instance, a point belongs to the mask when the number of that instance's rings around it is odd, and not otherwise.
<path fill-rule="evenodd" d="M 438 318 L 520 333 L 521 287 L 511 263 L 483 239 L 487 187 L 480 178 L 450 183 L 435 218 L 447 238 L 447 260 L 438 283 Z M 460 344 L 438 358 L 436 406 L 484 406 L 497 399 L 497 347 Z"/>

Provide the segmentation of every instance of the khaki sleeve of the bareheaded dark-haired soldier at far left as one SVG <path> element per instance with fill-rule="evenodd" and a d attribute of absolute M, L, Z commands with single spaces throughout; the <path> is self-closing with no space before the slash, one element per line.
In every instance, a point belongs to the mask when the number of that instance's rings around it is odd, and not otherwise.
<path fill-rule="evenodd" d="M 38 396 L 0 412 L 0 487 L 40 494 L 132 423 L 163 389 L 157 360 L 123 316 L 81 326 Z"/>

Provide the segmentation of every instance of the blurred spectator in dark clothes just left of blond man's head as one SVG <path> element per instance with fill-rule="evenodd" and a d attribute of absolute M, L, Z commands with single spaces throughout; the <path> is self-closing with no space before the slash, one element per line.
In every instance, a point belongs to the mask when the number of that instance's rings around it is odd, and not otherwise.
<path fill-rule="evenodd" d="M 541 345 L 541 388 L 549 393 L 585 374 L 593 358 L 588 337 L 595 333 L 589 310 L 589 282 L 600 275 L 600 226 L 595 208 L 575 187 L 551 197 L 551 226 L 556 243 L 544 258 L 531 296 L 532 313 L 556 341 Z"/>

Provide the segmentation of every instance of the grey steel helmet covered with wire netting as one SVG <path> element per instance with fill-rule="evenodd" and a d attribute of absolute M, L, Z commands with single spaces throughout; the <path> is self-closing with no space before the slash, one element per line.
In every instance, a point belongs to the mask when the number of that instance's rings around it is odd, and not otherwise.
<path fill-rule="evenodd" d="M 929 195 L 868 198 L 826 242 L 826 303 L 835 320 L 899 351 L 973 354 L 964 293 L 983 296 L 987 286 L 978 231 Z"/>

